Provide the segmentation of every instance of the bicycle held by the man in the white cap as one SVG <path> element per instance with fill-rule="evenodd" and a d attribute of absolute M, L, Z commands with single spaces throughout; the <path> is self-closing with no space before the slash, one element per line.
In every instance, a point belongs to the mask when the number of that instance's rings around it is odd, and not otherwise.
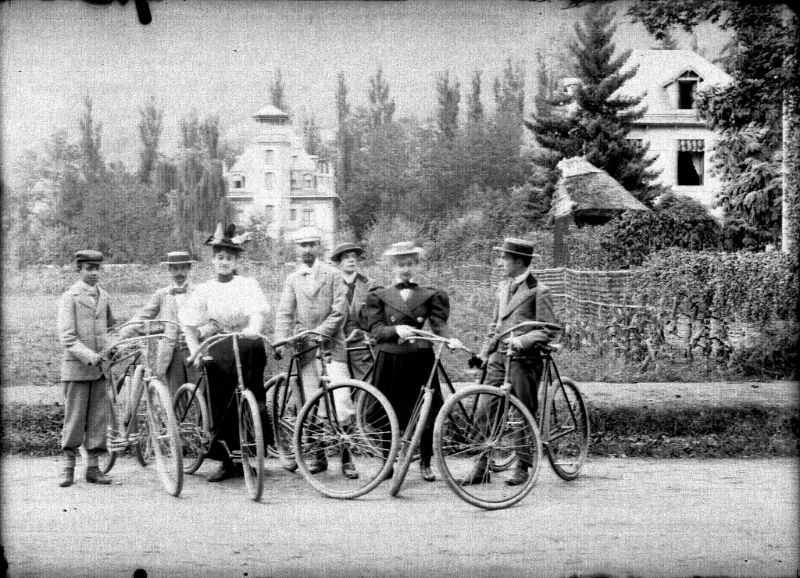
<path fill-rule="evenodd" d="M 308 339 L 311 338 L 311 339 Z M 275 446 L 284 468 L 299 469 L 313 488 L 330 498 L 357 498 L 373 490 L 391 468 L 397 453 L 397 417 L 386 397 L 374 386 L 355 379 L 331 382 L 327 365 L 329 337 L 301 331 L 274 344 L 294 345 L 286 372 L 267 382 Z M 319 391 L 304 400 L 301 360 L 313 352 L 321 367 Z M 355 415 L 340 415 L 335 398 L 360 400 Z M 348 419 L 350 418 L 350 419 Z M 328 469 L 329 459 L 349 462 L 346 474 Z M 321 466 L 320 464 L 324 464 Z"/>

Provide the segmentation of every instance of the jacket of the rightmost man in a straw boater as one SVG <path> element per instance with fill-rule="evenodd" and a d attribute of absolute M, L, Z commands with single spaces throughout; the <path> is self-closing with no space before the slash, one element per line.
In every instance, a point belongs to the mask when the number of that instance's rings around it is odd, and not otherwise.
<path fill-rule="evenodd" d="M 481 350 L 486 356 L 489 353 L 489 344 L 495 335 L 506 329 L 522 323 L 523 321 L 544 321 L 558 323 L 553 308 L 553 297 L 550 288 L 540 283 L 536 277 L 528 273 L 520 283 L 511 299 L 508 298 L 508 288 L 513 279 L 506 279 L 497 290 L 497 304 L 494 308 L 489 334 Z M 532 353 L 537 343 L 547 343 L 557 337 L 556 332 L 549 330 L 534 330 L 522 336 L 522 352 Z"/>

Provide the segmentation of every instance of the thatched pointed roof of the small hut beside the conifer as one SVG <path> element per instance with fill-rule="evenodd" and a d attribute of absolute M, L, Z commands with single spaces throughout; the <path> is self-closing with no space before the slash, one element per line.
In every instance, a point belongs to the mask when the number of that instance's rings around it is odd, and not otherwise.
<path fill-rule="evenodd" d="M 554 218 L 572 215 L 576 222 L 611 219 L 623 211 L 649 211 L 611 175 L 584 157 L 558 163 L 561 178 L 553 194 L 550 213 Z"/>

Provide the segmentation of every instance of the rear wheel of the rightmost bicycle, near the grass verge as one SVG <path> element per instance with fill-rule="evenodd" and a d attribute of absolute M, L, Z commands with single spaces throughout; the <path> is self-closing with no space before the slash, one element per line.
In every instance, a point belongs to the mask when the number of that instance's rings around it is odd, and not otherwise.
<path fill-rule="evenodd" d="M 589 455 L 589 412 L 578 386 L 562 378 L 552 390 L 547 430 L 543 430 L 547 458 L 559 477 L 570 481 L 580 474 Z"/>

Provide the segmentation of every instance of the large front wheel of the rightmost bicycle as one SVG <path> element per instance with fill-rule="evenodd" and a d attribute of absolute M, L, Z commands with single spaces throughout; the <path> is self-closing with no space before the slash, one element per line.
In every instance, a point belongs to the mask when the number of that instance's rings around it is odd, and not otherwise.
<path fill-rule="evenodd" d="M 466 387 L 445 402 L 436 416 L 433 450 L 450 489 L 487 510 L 507 508 L 527 496 L 542 460 L 539 429 L 530 411 L 513 395 L 485 385 Z M 520 485 L 506 483 L 511 474 L 505 470 L 490 468 L 495 455 L 508 453 L 530 464 Z"/>

